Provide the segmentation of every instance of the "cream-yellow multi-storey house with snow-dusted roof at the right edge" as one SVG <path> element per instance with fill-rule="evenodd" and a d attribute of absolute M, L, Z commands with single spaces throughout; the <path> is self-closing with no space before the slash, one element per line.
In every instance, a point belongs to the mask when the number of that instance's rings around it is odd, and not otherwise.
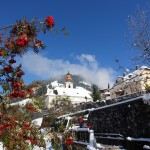
<path fill-rule="evenodd" d="M 146 91 L 150 87 L 150 68 L 147 66 L 136 67 L 128 74 L 119 76 L 110 89 L 111 99 L 128 94 Z"/>

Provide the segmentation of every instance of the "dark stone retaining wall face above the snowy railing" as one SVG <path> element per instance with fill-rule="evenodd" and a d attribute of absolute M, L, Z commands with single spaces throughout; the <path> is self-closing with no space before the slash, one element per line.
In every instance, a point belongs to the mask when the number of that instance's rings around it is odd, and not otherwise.
<path fill-rule="evenodd" d="M 150 138 L 150 105 L 139 98 L 102 106 L 90 112 L 89 123 L 95 133 Z"/>

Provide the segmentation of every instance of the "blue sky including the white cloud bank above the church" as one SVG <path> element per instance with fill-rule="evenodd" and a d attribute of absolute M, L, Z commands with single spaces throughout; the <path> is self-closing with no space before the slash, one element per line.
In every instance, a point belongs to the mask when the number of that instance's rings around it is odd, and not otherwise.
<path fill-rule="evenodd" d="M 113 84 L 117 75 L 115 59 L 131 67 L 133 51 L 127 43 L 127 19 L 137 5 L 149 0 L 1 0 L 0 26 L 53 16 L 55 27 L 66 27 L 69 36 L 41 34 L 46 50 L 27 54 L 20 62 L 26 72 L 25 82 L 53 76 L 79 74 L 101 88 Z"/>

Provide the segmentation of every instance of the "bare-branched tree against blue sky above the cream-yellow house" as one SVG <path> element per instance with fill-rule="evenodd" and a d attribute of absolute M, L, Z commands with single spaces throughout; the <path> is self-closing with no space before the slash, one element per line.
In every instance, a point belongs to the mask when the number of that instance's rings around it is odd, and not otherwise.
<path fill-rule="evenodd" d="M 137 55 L 132 58 L 135 64 L 150 64 L 150 11 L 138 8 L 135 16 L 128 16 L 130 45 Z"/>

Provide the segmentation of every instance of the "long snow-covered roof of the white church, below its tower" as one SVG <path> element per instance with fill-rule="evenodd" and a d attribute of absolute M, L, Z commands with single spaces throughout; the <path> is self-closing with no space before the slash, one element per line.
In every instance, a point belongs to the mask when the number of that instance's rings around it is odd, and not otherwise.
<path fill-rule="evenodd" d="M 90 96 L 90 91 L 87 91 L 83 87 L 77 88 L 65 88 L 65 87 L 56 87 L 53 90 L 49 90 L 46 95 L 56 95 L 55 91 L 57 91 L 58 96 L 70 96 L 70 97 L 87 97 L 92 98 Z"/>

